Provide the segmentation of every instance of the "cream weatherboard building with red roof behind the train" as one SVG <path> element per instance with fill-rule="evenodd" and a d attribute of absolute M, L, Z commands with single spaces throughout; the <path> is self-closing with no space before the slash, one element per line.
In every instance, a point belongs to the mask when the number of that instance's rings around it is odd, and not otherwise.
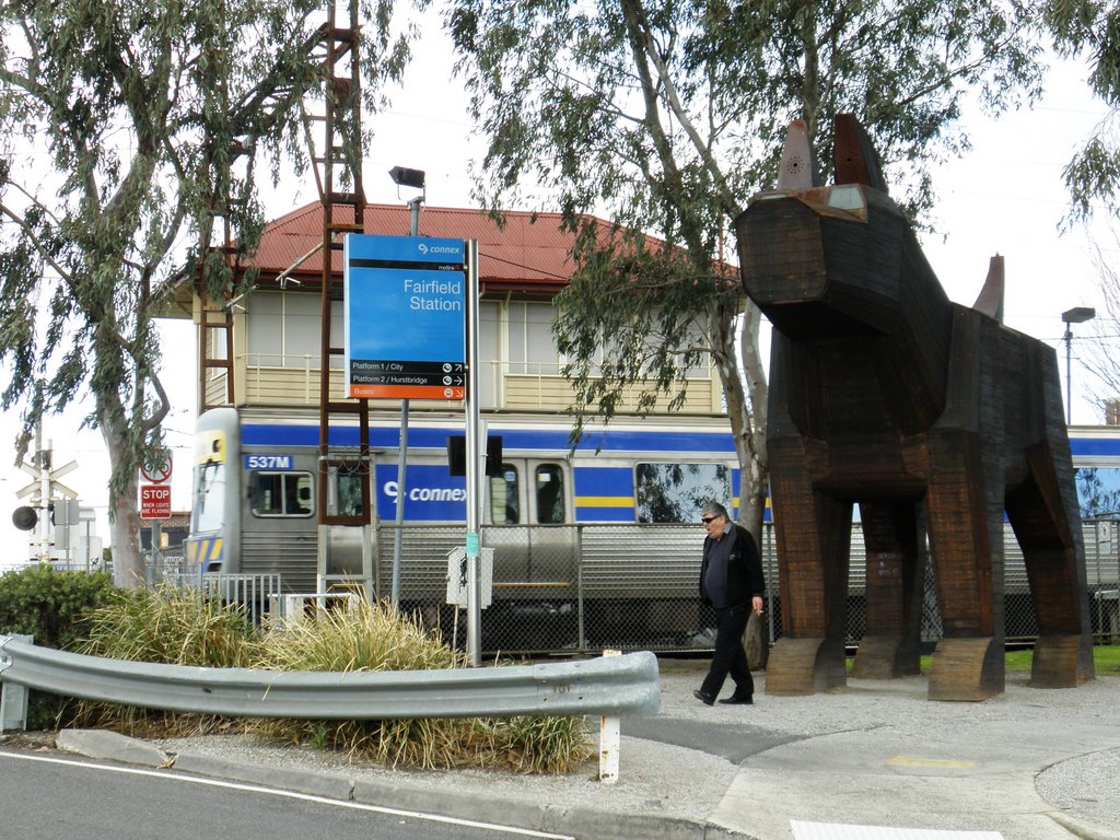
<path fill-rule="evenodd" d="M 351 211 L 338 207 L 335 212 L 342 218 Z M 200 330 L 207 342 L 205 354 L 222 360 L 221 364 L 211 361 L 199 367 L 199 393 L 205 395 L 200 405 L 226 402 L 230 375 L 234 377 L 233 402 L 239 407 L 298 411 L 319 404 L 323 221 L 323 205 L 314 202 L 265 227 L 253 259 L 260 269 L 256 286 L 232 308 L 232 358 L 225 358 L 224 339 L 215 330 Z M 405 205 L 371 204 L 365 208 L 367 234 L 407 235 L 410 223 L 411 211 Z M 601 224 L 609 230 L 608 223 Z M 560 214 L 511 212 L 498 224 L 478 209 L 423 207 L 419 233 L 478 242 L 479 408 L 564 413 L 572 402 L 572 390 L 560 373 L 562 360 L 552 337 L 553 298 L 573 270 L 575 233 L 563 228 Z M 332 270 L 340 277 L 342 251 L 332 251 L 330 259 Z M 185 312 L 186 297 L 178 304 Z M 202 301 L 197 293 L 189 306 L 195 323 L 199 323 Z M 332 343 L 340 345 L 342 301 L 334 301 L 333 309 Z M 383 326 L 400 328 L 396 324 Z M 332 399 L 342 400 L 342 358 L 333 360 L 332 367 Z M 688 390 L 682 413 L 722 413 L 718 377 L 710 371 L 697 372 Z M 413 404 L 420 410 L 461 407 L 426 401 Z M 395 410 L 398 405 L 399 401 L 371 401 L 373 409 Z M 625 413 L 626 407 L 624 403 L 620 412 Z"/>

